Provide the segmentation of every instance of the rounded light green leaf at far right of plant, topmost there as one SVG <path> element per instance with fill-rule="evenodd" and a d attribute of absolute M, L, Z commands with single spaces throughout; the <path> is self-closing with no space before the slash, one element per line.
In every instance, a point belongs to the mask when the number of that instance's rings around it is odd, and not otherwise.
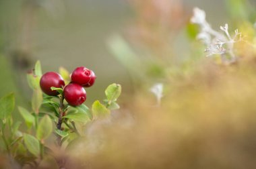
<path fill-rule="evenodd" d="M 117 98 L 121 95 L 121 85 L 120 84 L 110 84 L 105 91 L 106 99 L 108 101 L 117 101 Z"/>

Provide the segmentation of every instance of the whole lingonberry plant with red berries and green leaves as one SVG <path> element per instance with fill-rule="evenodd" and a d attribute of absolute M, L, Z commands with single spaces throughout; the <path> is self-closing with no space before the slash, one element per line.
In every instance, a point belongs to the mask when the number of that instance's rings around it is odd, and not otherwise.
<path fill-rule="evenodd" d="M 27 79 L 33 90 L 32 106 L 31 109 L 18 107 L 26 123 L 25 131 L 20 129 L 22 121 L 15 121 L 11 115 L 15 107 L 13 93 L 0 99 L 2 151 L 7 152 L 13 165 L 40 165 L 44 156 L 52 154 L 46 140 L 50 146 L 53 145 L 51 140 L 55 140 L 57 147 L 65 149 L 84 136 L 86 125 L 119 109 L 117 99 L 121 95 L 121 85 L 115 83 L 107 87 L 103 103 L 95 101 L 92 109 L 83 104 L 86 101 L 84 87 L 92 87 L 96 80 L 94 72 L 85 67 L 75 68 L 71 75 L 65 68 L 60 68 L 59 73 L 42 75 L 38 61 L 34 70 L 28 72 Z M 52 133 L 55 133 L 55 139 Z"/>

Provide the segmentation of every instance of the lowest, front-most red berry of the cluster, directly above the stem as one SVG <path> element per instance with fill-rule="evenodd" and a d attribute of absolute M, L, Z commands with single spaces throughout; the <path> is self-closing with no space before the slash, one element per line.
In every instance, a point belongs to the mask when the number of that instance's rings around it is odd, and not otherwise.
<path fill-rule="evenodd" d="M 72 106 L 78 106 L 86 101 L 86 90 L 75 83 L 68 84 L 64 88 L 64 98 Z"/>

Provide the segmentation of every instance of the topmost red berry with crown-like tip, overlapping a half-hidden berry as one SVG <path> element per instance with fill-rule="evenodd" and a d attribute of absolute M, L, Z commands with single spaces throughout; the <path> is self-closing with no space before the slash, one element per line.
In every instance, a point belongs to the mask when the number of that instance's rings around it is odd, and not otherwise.
<path fill-rule="evenodd" d="M 86 67 L 78 67 L 73 70 L 71 74 L 71 81 L 76 84 L 80 84 L 82 86 L 86 85 L 90 82 L 92 78 L 91 71 Z"/>

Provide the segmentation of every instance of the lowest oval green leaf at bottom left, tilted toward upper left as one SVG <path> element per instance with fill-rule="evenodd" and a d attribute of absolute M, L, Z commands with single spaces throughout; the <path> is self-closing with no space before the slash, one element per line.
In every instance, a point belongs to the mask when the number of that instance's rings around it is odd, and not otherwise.
<path fill-rule="evenodd" d="M 38 139 L 36 139 L 33 135 L 24 133 L 24 144 L 26 148 L 28 148 L 28 151 L 35 156 L 39 155 L 40 152 L 40 143 L 38 142 Z"/>

